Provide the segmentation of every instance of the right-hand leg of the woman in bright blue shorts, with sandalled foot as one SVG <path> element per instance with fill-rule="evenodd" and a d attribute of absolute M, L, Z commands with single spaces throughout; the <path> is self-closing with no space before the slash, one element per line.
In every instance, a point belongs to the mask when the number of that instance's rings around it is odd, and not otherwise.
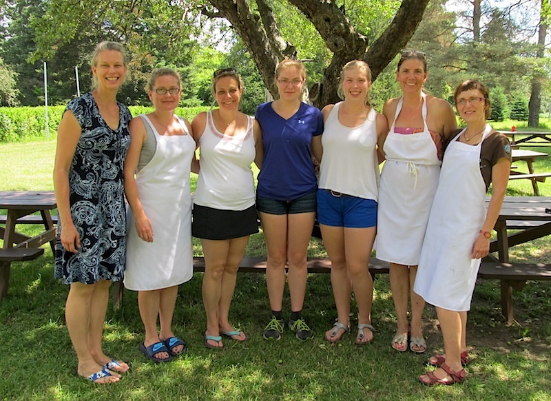
<path fill-rule="evenodd" d="M 373 278 L 369 274 L 369 256 L 375 240 L 375 227 L 344 228 L 344 247 L 346 249 L 346 266 L 352 280 L 352 288 L 358 309 L 358 325 L 371 325 L 371 305 L 373 303 Z M 365 333 L 368 330 L 369 333 Z M 362 340 L 358 343 L 371 342 L 373 332 L 363 329 Z"/>

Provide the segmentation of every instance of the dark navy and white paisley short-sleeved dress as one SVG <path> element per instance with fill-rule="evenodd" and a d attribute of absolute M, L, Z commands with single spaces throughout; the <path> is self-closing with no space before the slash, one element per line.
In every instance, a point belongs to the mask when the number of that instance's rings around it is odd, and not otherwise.
<path fill-rule="evenodd" d="M 118 128 L 112 130 L 101 116 L 91 92 L 73 99 L 70 110 L 81 125 L 69 172 L 71 216 L 81 239 L 73 254 L 56 240 L 54 276 L 64 284 L 122 280 L 126 259 L 126 214 L 123 167 L 130 145 L 128 123 L 132 114 L 118 103 Z"/>

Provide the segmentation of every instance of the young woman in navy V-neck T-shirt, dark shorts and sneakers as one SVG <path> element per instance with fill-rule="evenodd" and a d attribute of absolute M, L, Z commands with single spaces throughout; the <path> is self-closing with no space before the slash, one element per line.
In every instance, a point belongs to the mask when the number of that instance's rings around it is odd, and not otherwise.
<path fill-rule="evenodd" d="M 271 320 L 264 339 L 279 340 L 284 330 L 282 312 L 285 266 L 289 265 L 291 315 L 289 329 L 300 341 L 312 337 L 302 316 L 306 293 L 306 250 L 315 220 L 317 178 L 312 155 L 321 158 L 323 116 L 304 103 L 306 68 L 286 59 L 275 69 L 279 99 L 256 110 L 262 127 L 264 161 L 258 174 L 256 208 L 267 246 L 266 284 Z"/>

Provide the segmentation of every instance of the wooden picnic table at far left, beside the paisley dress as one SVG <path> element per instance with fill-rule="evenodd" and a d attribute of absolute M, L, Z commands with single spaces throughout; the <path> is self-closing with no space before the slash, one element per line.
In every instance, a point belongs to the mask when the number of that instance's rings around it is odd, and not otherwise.
<path fill-rule="evenodd" d="M 0 227 L 4 250 L 0 258 L 0 299 L 8 294 L 12 260 L 38 257 L 41 252 L 30 249 L 37 249 L 48 242 L 54 251 L 56 227 L 50 211 L 56 207 L 56 198 L 52 191 L 0 191 L 0 209 L 8 211 L 0 221 L 5 225 Z M 40 212 L 40 216 L 32 216 L 35 212 Z M 43 225 L 44 231 L 30 237 L 16 231 L 19 224 Z M 14 249 L 6 251 L 8 248 Z"/>

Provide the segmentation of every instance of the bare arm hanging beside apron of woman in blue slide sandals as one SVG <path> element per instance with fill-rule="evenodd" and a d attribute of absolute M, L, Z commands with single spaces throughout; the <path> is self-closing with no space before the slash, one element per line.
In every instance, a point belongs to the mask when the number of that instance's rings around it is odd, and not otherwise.
<path fill-rule="evenodd" d="M 125 179 L 125 195 L 128 200 L 128 205 L 134 214 L 136 221 L 136 233 L 138 236 L 148 242 L 153 242 L 153 228 L 149 218 L 147 218 L 138 193 L 138 185 L 136 184 L 136 169 L 140 161 L 143 143 L 147 136 L 145 125 L 141 118 L 132 119 L 128 125 L 130 130 L 130 147 L 126 154 L 124 179 Z"/>

